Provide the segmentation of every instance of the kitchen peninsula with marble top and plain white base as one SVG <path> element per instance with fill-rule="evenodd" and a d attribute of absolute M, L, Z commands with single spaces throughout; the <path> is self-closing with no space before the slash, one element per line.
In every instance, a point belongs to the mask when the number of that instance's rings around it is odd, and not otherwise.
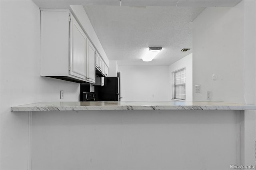
<path fill-rule="evenodd" d="M 30 115 L 33 169 L 255 168 L 256 105 L 41 102 L 11 110 Z"/>

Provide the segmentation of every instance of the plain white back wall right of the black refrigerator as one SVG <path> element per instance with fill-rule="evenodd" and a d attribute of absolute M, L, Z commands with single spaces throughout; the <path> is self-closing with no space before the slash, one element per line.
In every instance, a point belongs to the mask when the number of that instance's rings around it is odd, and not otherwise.
<path fill-rule="evenodd" d="M 122 101 L 168 101 L 168 66 L 118 65 Z"/>

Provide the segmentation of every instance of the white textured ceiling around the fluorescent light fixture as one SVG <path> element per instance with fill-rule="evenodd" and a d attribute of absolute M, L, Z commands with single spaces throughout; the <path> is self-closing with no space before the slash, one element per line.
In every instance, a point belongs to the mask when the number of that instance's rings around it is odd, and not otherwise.
<path fill-rule="evenodd" d="M 170 65 L 192 52 L 192 21 L 205 7 L 232 7 L 240 0 L 84 0 L 34 2 L 40 8 L 80 4 L 110 60 L 119 65 Z M 50 3 L 49 3 L 50 2 Z M 149 46 L 162 51 L 150 62 L 142 56 Z"/>

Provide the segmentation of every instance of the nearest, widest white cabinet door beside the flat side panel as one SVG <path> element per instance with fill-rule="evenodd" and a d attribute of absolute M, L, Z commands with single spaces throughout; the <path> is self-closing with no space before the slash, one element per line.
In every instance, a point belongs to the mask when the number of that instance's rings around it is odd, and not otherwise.
<path fill-rule="evenodd" d="M 85 79 L 87 37 L 73 16 L 70 23 L 70 40 L 70 75 Z"/>

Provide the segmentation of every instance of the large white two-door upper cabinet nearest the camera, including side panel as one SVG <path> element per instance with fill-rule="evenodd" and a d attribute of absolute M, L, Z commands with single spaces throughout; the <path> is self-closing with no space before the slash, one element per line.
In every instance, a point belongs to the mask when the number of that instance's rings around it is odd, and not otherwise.
<path fill-rule="evenodd" d="M 40 75 L 95 82 L 95 49 L 69 10 L 41 9 Z"/>

